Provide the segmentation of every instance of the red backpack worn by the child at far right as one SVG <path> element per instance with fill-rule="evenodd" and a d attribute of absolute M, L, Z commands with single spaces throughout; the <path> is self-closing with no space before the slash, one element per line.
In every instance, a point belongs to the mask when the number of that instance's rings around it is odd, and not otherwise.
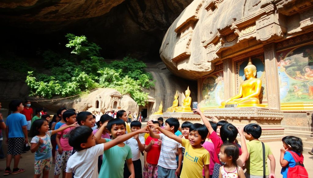
<path fill-rule="evenodd" d="M 288 167 L 287 178 L 308 178 L 309 177 L 308 172 L 306 171 L 303 165 L 303 155 L 300 154 L 299 156 L 294 152 L 291 151 L 287 152 L 290 152 L 290 154 L 295 160 L 295 166 Z"/>

